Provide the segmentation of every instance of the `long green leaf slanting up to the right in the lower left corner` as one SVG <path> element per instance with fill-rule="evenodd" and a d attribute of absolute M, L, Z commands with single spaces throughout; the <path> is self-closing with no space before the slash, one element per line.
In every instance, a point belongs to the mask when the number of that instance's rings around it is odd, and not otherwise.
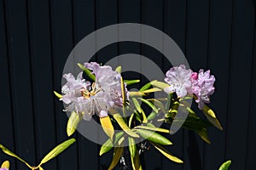
<path fill-rule="evenodd" d="M 68 139 L 65 142 L 57 145 L 53 150 L 51 150 L 46 156 L 44 156 L 43 160 L 40 162 L 40 165 L 53 159 L 55 156 L 58 156 L 63 150 L 66 150 L 71 144 L 73 144 L 75 139 Z"/>

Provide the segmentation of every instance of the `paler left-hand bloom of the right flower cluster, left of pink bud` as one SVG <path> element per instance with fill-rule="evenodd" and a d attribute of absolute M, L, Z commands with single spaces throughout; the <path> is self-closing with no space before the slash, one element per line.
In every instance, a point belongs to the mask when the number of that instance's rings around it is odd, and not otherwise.
<path fill-rule="evenodd" d="M 187 70 L 185 65 L 172 67 L 166 72 L 165 81 L 170 85 L 164 89 L 166 94 L 176 92 L 178 97 L 185 97 L 192 85 L 190 80 L 191 75 L 192 71 L 190 69 Z"/>

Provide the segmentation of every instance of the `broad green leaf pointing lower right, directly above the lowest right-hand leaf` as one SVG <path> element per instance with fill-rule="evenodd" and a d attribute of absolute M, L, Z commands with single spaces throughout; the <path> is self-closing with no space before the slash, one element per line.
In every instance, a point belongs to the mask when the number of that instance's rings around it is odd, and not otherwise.
<path fill-rule="evenodd" d="M 148 139 L 149 141 L 154 142 L 156 144 L 163 144 L 163 145 L 172 144 L 172 142 L 169 139 L 166 139 L 165 137 L 163 137 L 158 133 L 154 133 L 152 131 L 139 129 L 139 128 L 136 128 L 136 131 L 140 133 L 143 139 Z"/>

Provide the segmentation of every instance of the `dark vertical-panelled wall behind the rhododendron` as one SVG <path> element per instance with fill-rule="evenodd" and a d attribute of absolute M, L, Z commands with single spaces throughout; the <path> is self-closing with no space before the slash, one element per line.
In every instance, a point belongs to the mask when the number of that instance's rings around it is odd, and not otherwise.
<path fill-rule="evenodd" d="M 183 165 L 150 150 L 144 169 L 216 170 L 228 159 L 232 170 L 256 169 L 254 13 L 253 0 L 0 0 L 0 143 L 38 164 L 67 139 L 67 116 L 52 92 L 61 90 L 62 69 L 74 45 L 104 26 L 143 23 L 172 37 L 193 70 L 211 69 L 217 78 L 211 107 L 224 127 L 223 132 L 209 130 L 212 144 L 179 131 L 169 149 Z M 97 53 L 97 59 L 104 63 L 125 53 L 171 66 L 137 43 L 115 43 Z M 97 144 L 79 133 L 74 137 L 78 141 L 45 164 L 45 170 L 109 165 L 111 155 L 99 157 Z M 26 169 L 0 152 L 0 161 L 6 159 L 12 170 Z"/>

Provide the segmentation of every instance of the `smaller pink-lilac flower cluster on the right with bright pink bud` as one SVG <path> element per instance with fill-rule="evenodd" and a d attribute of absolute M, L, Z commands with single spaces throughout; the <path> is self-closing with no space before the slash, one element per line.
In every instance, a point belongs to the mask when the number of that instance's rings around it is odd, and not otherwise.
<path fill-rule="evenodd" d="M 185 65 L 172 67 L 166 72 L 165 81 L 170 85 L 165 88 L 166 94 L 175 92 L 180 98 L 195 94 L 195 102 L 201 110 L 205 103 L 210 102 L 210 95 L 214 93 L 215 77 L 210 75 L 210 71 L 204 72 L 202 69 L 197 73 L 186 69 Z"/>

